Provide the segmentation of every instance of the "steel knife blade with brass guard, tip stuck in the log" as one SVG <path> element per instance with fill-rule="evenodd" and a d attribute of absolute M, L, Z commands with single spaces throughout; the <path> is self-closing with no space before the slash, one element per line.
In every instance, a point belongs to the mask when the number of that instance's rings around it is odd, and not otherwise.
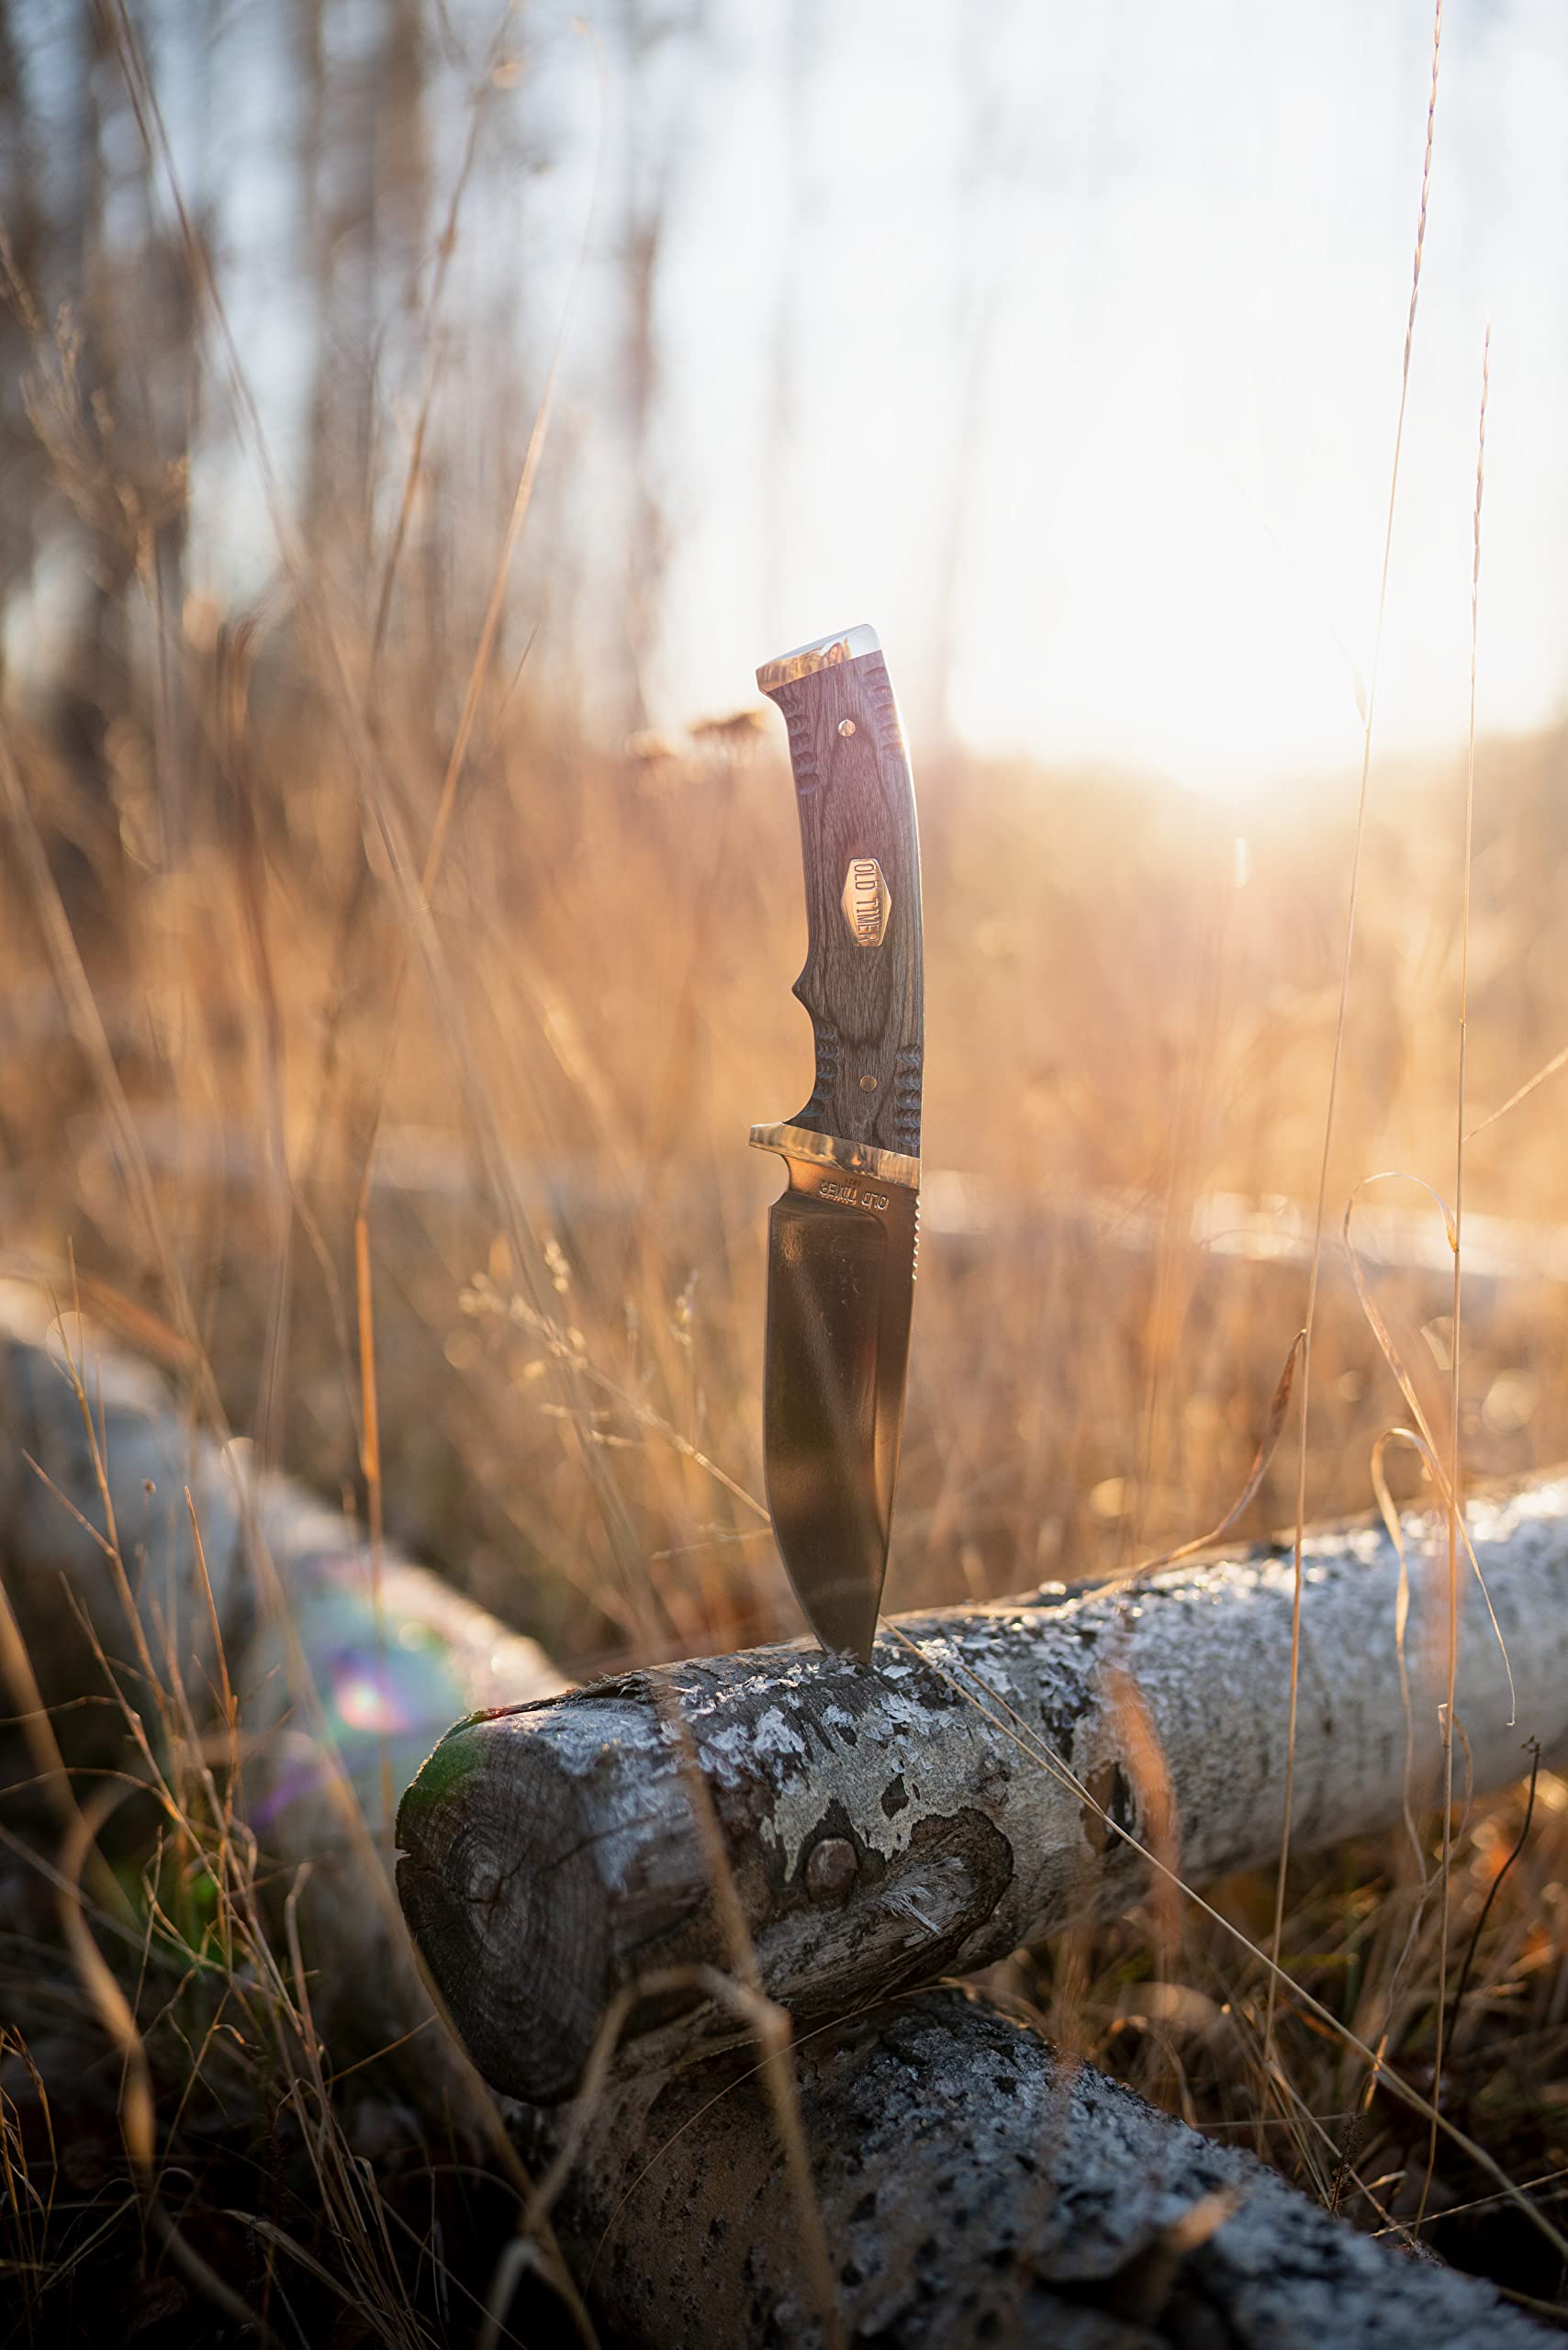
<path fill-rule="evenodd" d="M 919 1161 L 752 1128 L 790 1184 L 769 1217 L 764 1459 L 773 1532 L 823 1647 L 870 1661 L 886 1577 Z"/>

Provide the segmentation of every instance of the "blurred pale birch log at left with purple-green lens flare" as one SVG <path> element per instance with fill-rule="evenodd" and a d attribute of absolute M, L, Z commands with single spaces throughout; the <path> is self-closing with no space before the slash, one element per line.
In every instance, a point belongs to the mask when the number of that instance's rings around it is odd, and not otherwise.
<path fill-rule="evenodd" d="M 388 1798 L 454 1713 L 564 1687 L 538 1643 L 395 1549 L 371 1553 L 341 1511 L 188 1426 L 153 1370 L 9 1281 L 0 1563 L 42 1697 L 66 1708 L 71 1762 L 122 1760 L 122 1706 L 155 1744 L 169 1725 L 214 1732 L 228 1676 L 244 1817 L 270 1852 L 310 1859 L 303 1918 L 334 1958 L 324 2000 L 343 1993 L 355 2037 L 390 2037 L 411 1969 Z"/>

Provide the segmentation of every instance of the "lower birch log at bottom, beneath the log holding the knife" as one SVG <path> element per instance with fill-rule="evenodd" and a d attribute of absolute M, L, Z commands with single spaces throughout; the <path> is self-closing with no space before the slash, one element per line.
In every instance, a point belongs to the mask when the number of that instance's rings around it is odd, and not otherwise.
<path fill-rule="evenodd" d="M 957 1988 L 818 2033 L 795 2061 L 846 2350 L 1552 2341 L 1493 2287 L 1356 2235 Z M 823 2343 L 769 2101 L 736 2054 L 618 2089 L 557 2230 L 623 2341 Z"/>

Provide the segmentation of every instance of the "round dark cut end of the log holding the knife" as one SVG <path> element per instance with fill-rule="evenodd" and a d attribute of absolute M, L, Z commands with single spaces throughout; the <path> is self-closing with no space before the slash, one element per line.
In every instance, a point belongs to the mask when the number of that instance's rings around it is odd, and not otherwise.
<path fill-rule="evenodd" d="M 604 2014 L 604 1894 L 571 1777 L 527 1737 L 510 1772 L 482 1770 L 487 1727 L 449 1730 L 402 1798 L 397 1894 L 484 2077 L 550 2103 Z"/>

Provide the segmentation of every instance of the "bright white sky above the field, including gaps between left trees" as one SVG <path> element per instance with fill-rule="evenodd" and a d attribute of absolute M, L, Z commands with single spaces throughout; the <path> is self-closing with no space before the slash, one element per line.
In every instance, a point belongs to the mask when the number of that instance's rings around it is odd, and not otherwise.
<path fill-rule="evenodd" d="M 515 576 L 536 672 L 555 653 L 592 691 L 625 644 L 621 254 L 628 186 L 663 176 L 656 721 L 733 710 L 762 658 L 870 620 L 917 743 L 945 714 L 987 752 L 1211 792 L 1356 764 L 1429 0 L 705 0 L 691 21 L 602 0 L 588 38 L 581 5 L 512 19 L 520 70 L 487 118 L 437 343 L 444 496 L 484 578 L 602 146 Z M 292 291 L 292 16 L 237 0 L 221 38 L 193 40 L 176 0 L 155 14 L 176 143 L 219 204 L 230 315 L 296 479 L 313 320 Z M 505 0 L 449 0 L 461 38 L 428 47 L 421 282 L 503 19 Z M 682 28 L 635 78 L 628 26 L 665 21 Z M 386 24 L 378 0 L 329 16 L 350 59 L 374 59 Z M 40 40 L 38 89 L 66 110 L 73 56 Z M 407 298 L 395 268 L 388 284 Z M 1387 752 L 1465 736 L 1488 320 L 1479 717 L 1523 731 L 1568 703 L 1566 0 L 1446 5 Z M 402 310 L 376 341 L 388 446 L 428 367 L 400 322 L 425 331 Z M 252 472 L 233 449 L 197 470 L 202 545 L 266 571 Z"/>

